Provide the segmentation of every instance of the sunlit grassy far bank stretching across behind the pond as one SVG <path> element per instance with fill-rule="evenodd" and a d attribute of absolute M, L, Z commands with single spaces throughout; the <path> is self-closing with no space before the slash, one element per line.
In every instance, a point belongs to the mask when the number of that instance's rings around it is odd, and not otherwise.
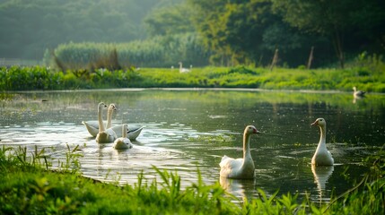
<path fill-rule="evenodd" d="M 179 69 L 140 68 L 56 72 L 45 67 L 0 68 L 0 90 L 75 90 L 107 88 L 258 88 L 267 90 L 359 90 L 385 92 L 385 65 L 350 69 L 306 70 L 204 67 L 190 73 Z"/>

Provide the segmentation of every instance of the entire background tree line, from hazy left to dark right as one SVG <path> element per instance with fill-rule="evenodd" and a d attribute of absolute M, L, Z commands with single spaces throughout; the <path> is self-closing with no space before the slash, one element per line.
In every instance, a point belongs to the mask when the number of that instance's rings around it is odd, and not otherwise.
<path fill-rule="evenodd" d="M 69 46 L 72 43 L 104 44 L 100 47 L 121 47 L 124 43 L 124 55 L 117 49 L 118 57 L 124 59 L 121 64 L 137 66 L 168 67 L 179 61 L 194 65 L 267 66 L 275 60 L 275 64 L 284 67 L 344 67 L 362 53 L 385 52 L 385 1 L 381 0 L 3 2 L 0 26 L 8 23 L 7 33 L 0 33 L 3 56 L 23 53 L 22 56 L 41 57 L 48 48 L 46 58 L 48 53 L 56 52 L 59 57 L 63 45 L 73 47 Z M 20 10 L 26 13 L 24 19 L 13 19 Z M 38 22 L 40 26 L 21 23 L 28 20 L 28 13 L 47 11 L 51 13 L 45 14 L 44 19 L 39 17 L 43 19 Z M 49 22 L 52 26 L 47 27 L 44 24 L 49 20 L 56 22 Z M 55 27 L 53 23 L 59 22 L 63 25 Z M 57 35 L 68 31 L 71 36 L 57 39 Z M 25 34 L 33 36 L 28 38 L 31 41 L 21 39 L 25 44 L 12 48 L 17 46 L 11 44 Z M 181 42 L 186 38 L 195 40 Z"/>

